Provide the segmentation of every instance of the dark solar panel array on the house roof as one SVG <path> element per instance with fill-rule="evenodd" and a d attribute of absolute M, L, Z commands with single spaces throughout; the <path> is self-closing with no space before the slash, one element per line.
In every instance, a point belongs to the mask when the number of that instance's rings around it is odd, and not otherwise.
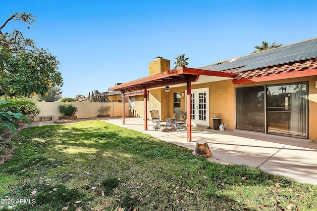
<path fill-rule="evenodd" d="M 222 64 L 207 65 L 200 69 L 221 71 L 240 68 L 238 72 L 242 72 L 314 57 L 317 57 L 317 38 L 250 54 Z"/>

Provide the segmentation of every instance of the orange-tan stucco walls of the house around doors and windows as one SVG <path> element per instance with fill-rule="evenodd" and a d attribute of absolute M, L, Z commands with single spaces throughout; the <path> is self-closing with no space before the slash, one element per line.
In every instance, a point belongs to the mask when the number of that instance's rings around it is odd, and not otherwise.
<path fill-rule="evenodd" d="M 286 84 L 308 82 L 308 138 L 317 141 L 317 88 L 315 83 L 317 76 L 302 77 L 295 79 L 276 80 L 262 83 L 232 84 L 231 80 L 211 82 L 206 84 L 192 85 L 192 89 L 209 87 L 209 126 L 213 126 L 212 117 L 220 117 L 221 123 L 227 123 L 227 129 L 235 129 L 235 88 L 248 87 L 264 84 Z M 172 118 L 173 93 L 185 93 L 186 87 L 171 87 L 169 92 L 164 88 L 152 89 L 148 95 L 148 117 L 150 110 L 159 110 L 162 118 Z M 185 96 L 181 94 L 181 107 L 185 111 Z M 133 109 L 134 116 L 144 117 L 144 96 L 136 96 L 136 107 Z M 56 115 L 55 115 L 56 116 Z M 118 115 L 119 116 L 119 115 Z"/>

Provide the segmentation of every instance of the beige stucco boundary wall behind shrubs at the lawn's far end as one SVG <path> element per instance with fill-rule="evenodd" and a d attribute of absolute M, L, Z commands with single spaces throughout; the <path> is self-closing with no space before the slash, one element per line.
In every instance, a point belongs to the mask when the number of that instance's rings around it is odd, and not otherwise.
<path fill-rule="evenodd" d="M 37 102 L 36 105 L 40 109 L 40 114 L 34 118 L 34 121 L 41 121 L 41 115 L 54 115 L 54 120 L 58 120 L 59 117 L 64 116 L 58 111 L 58 106 L 64 104 L 64 102 Z M 122 103 L 81 103 L 81 102 L 69 102 L 73 106 L 78 108 L 76 116 L 78 119 L 82 118 L 94 118 L 99 115 L 98 109 L 101 105 L 110 106 L 109 115 L 110 117 L 122 116 Z M 126 104 L 128 105 L 128 104 Z M 126 109 L 128 114 L 128 106 Z"/>

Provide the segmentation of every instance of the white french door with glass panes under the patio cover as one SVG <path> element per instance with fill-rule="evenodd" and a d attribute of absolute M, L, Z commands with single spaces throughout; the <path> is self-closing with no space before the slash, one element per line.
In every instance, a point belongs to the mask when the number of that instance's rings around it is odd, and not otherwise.
<path fill-rule="evenodd" d="M 209 88 L 192 89 L 191 92 L 192 122 L 209 126 Z"/>

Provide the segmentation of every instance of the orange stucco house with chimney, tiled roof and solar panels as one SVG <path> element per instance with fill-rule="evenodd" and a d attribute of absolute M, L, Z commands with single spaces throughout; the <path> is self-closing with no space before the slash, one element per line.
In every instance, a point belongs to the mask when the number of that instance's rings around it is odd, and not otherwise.
<path fill-rule="evenodd" d="M 213 127 L 221 118 L 227 129 L 293 136 L 317 141 L 317 38 L 211 64 L 198 69 L 235 73 L 218 79 L 199 76 L 191 85 L 192 123 Z M 149 64 L 149 75 L 169 71 L 161 57 Z M 144 91 L 129 97 L 130 113 L 144 117 Z M 174 108 L 186 111 L 186 84 L 148 90 L 148 112 L 162 118 Z M 148 115 L 149 116 L 149 115 Z"/>

